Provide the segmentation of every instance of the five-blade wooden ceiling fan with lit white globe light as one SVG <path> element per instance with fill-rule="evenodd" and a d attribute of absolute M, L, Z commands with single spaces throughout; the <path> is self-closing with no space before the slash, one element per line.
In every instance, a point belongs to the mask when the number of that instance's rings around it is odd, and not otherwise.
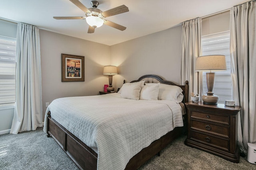
<path fill-rule="evenodd" d="M 97 7 L 99 5 L 98 1 L 92 0 L 91 4 L 93 8 L 86 8 L 79 0 L 70 0 L 73 4 L 75 4 L 78 8 L 84 11 L 86 14 L 85 17 L 53 17 L 56 20 L 73 20 L 73 19 L 82 19 L 86 20 L 89 24 L 88 33 L 94 33 L 96 27 L 100 27 L 103 24 L 108 25 L 110 27 L 119 29 L 124 31 L 126 27 L 119 25 L 117 23 L 106 20 L 106 17 L 114 16 L 117 14 L 122 14 L 124 12 L 128 12 L 129 9 L 125 5 L 118 6 L 116 8 L 112 8 L 110 10 L 102 12 Z"/>

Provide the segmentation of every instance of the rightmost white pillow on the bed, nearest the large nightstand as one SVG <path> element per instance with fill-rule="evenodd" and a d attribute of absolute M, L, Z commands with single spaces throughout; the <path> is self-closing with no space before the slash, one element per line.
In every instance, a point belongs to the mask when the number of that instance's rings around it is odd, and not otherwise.
<path fill-rule="evenodd" d="M 182 89 L 179 86 L 160 84 L 158 100 L 171 100 L 180 103 L 183 100 Z"/>

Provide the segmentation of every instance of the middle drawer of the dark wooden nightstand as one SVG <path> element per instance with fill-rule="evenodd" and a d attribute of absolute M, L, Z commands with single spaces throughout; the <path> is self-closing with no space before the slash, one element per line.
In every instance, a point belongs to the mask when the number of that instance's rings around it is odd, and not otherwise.
<path fill-rule="evenodd" d="M 229 127 L 214 125 L 212 123 L 191 120 L 191 129 L 198 129 L 208 133 L 213 133 L 223 137 L 229 137 Z"/>

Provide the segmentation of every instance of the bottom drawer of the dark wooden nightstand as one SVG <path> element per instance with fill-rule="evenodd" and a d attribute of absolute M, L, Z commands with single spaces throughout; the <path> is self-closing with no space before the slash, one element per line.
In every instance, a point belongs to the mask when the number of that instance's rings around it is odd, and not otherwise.
<path fill-rule="evenodd" d="M 217 147 L 222 150 L 229 150 L 229 140 L 221 139 L 211 135 L 206 135 L 204 133 L 199 133 L 195 131 L 190 131 L 191 139 L 208 144 L 212 147 Z"/>

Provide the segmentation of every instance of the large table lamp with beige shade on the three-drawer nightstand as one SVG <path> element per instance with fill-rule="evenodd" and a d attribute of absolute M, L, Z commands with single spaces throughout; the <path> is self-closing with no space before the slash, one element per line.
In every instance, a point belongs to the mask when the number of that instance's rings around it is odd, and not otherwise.
<path fill-rule="evenodd" d="M 226 58 L 224 55 L 206 55 L 197 57 L 196 70 L 195 71 L 209 71 L 206 72 L 206 85 L 208 92 L 207 95 L 202 96 L 202 100 L 205 104 L 217 104 L 219 97 L 214 95 L 214 76 L 212 71 L 227 70 Z"/>

